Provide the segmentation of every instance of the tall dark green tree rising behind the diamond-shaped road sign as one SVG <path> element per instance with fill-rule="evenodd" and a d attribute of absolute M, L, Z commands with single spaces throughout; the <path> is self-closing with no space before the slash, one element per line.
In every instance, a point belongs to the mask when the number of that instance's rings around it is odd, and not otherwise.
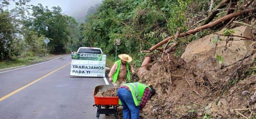
<path fill-rule="evenodd" d="M 70 31 L 68 28 L 72 25 L 77 25 L 74 18 L 63 15 L 61 8 L 52 7 L 49 10 L 43 7 L 42 4 L 32 6 L 32 23 L 30 26 L 34 31 L 38 32 L 38 36 L 50 38 L 48 44 L 52 53 L 64 52 L 65 45 L 69 41 Z M 71 28 L 70 28 L 71 30 Z"/>

